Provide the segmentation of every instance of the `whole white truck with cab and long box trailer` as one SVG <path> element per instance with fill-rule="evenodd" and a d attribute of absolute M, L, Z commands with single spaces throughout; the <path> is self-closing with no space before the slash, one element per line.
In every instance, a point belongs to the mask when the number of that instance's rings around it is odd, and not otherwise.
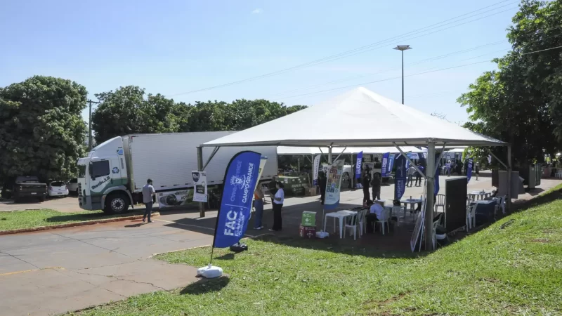
<path fill-rule="evenodd" d="M 133 134 L 106 140 L 78 160 L 78 201 L 81 209 L 122 213 L 142 203 L 142 188 L 152 179 L 159 204 L 192 197 L 192 171 L 197 146 L 234 131 Z M 203 148 L 203 164 L 214 148 Z M 207 185 L 222 185 L 230 159 L 244 150 L 267 157 L 261 181 L 277 174 L 277 147 L 221 147 L 205 168 Z"/>

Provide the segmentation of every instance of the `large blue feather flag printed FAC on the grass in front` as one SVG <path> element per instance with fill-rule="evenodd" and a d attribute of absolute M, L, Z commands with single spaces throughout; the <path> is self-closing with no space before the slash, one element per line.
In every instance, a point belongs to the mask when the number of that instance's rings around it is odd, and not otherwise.
<path fill-rule="evenodd" d="M 251 201 L 259 180 L 261 154 L 235 154 L 224 176 L 223 197 L 216 219 L 213 246 L 225 248 L 240 241 L 248 228 Z"/>

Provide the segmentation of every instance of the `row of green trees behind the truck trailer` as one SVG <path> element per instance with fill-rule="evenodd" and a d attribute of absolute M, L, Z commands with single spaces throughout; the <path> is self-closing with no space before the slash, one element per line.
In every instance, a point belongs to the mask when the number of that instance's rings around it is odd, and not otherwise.
<path fill-rule="evenodd" d="M 148 95 L 138 86 L 126 86 L 96 97 L 101 104 L 92 116 L 96 143 L 129 133 L 240 131 L 302 110 L 268 100 L 174 103 L 162 95 Z"/>

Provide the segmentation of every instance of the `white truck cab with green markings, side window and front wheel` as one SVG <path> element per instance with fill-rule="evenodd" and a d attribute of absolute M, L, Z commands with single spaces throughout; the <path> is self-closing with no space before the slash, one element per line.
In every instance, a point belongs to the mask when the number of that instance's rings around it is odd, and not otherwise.
<path fill-rule="evenodd" d="M 122 213 L 133 197 L 129 190 L 123 139 L 115 137 L 101 143 L 78 159 L 78 199 L 81 209 L 103 209 Z"/>

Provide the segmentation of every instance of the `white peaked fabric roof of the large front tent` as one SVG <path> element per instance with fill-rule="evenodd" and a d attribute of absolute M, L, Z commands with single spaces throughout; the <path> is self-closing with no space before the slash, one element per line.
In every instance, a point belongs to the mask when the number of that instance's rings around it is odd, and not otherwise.
<path fill-rule="evenodd" d="M 351 128 L 342 126 L 353 126 Z M 443 119 L 402 105 L 366 88 L 202 144 L 216 146 L 371 147 L 507 145 Z"/>

